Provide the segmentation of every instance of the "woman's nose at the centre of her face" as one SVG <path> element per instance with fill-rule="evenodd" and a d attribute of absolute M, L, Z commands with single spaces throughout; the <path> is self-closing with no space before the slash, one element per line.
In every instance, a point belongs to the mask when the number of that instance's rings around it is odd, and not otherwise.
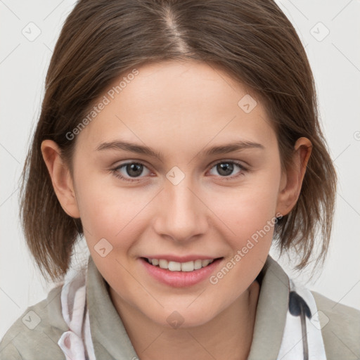
<path fill-rule="evenodd" d="M 187 178 L 185 176 L 177 185 L 167 181 L 158 198 L 155 231 L 176 242 L 198 238 L 207 231 L 208 226 L 206 202 Z"/>

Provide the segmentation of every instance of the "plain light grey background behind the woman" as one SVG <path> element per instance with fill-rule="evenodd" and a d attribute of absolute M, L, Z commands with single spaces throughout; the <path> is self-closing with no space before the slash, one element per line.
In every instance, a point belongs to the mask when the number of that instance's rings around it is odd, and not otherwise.
<path fill-rule="evenodd" d="M 297 281 L 360 309 L 360 1 L 277 3 L 306 46 L 316 79 L 323 129 L 339 176 L 326 265 L 314 281 L 308 282 L 309 271 L 303 271 Z M 52 49 L 74 5 L 72 0 L 0 0 L 0 338 L 28 306 L 44 299 L 51 288 L 35 269 L 25 246 L 18 218 L 18 180 L 40 113 Z M 28 25 L 31 22 L 36 26 Z M 29 27 L 32 35 L 36 27 L 41 31 L 33 41 L 22 33 L 30 33 Z M 324 37 L 326 28 L 330 33 Z M 84 243 L 82 250 L 86 250 Z M 274 250 L 271 255 L 278 259 Z M 79 255 L 76 263 L 81 265 L 84 256 Z M 286 258 L 278 261 L 290 276 L 296 276 Z"/>

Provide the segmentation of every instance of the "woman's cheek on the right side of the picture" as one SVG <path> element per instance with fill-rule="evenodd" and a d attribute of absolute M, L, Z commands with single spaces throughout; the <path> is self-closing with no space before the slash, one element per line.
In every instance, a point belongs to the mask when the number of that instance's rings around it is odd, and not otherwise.
<path fill-rule="evenodd" d="M 221 202 L 224 210 L 220 218 L 226 229 L 231 229 L 226 230 L 229 234 L 226 241 L 232 250 L 231 257 L 236 255 L 232 259 L 232 264 L 236 264 L 233 276 L 254 278 L 266 261 L 276 224 L 278 181 L 276 174 L 263 172 L 257 179 L 239 188 L 238 195 L 229 196 L 227 206 L 224 206 L 224 201 Z M 221 204 L 220 198 L 217 199 L 217 204 Z M 229 276 L 228 281 L 231 278 Z"/>

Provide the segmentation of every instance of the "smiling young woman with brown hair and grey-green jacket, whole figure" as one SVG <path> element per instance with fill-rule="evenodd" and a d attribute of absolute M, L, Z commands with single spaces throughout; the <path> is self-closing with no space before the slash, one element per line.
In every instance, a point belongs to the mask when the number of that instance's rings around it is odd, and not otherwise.
<path fill-rule="evenodd" d="M 359 357 L 360 311 L 269 256 L 326 257 L 336 174 L 316 106 L 274 1 L 80 0 L 23 173 L 27 244 L 60 283 L 0 359 Z"/>

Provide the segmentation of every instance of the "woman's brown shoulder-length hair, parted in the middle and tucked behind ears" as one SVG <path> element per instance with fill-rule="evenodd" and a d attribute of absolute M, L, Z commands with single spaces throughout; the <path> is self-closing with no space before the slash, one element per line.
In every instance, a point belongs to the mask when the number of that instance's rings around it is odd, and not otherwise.
<path fill-rule="evenodd" d="M 299 199 L 279 219 L 274 239 L 309 264 L 321 230 L 328 250 L 336 173 L 319 124 L 314 78 L 293 25 L 272 0 L 80 0 L 63 25 L 46 75 L 46 91 L 22 174 L 20 217 L 27 245 L 46 277 L 61 280 L 80 219 L 60 206 L 41 155 L 58 143 L 72 172 L 72 131 L 96 98 L 132 68 L 162 60 L 200 60 L 225 70 L 261 99 L 276 129 L 282 169 L 295 141 L 312 143 Z M 130 69 L 130 70 L 129 70 Z"/>

